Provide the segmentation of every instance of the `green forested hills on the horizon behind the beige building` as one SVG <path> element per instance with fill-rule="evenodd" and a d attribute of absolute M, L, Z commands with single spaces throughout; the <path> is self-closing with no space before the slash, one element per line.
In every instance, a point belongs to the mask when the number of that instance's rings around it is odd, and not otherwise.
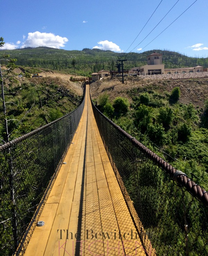
<path fill-rule="evenodd" d="M 197 65 L 208 67 L 208 58 L 187 57 L 177 52 L 167 50 L 152 50 L 142 53 L 127 53 L 125 69 L 146 65 L 147 56 L 154 51 L 163 54 L 165 68 L 195 67 Z M 115 70 L 117 56 L 123 53 L 103 51 L 99 49 L 83 49 L 82 51 L 66 51 L 48 47 L 24 48 L 16 50 L 1 50 L 1 54 L 10 54 L 17 59 L 17 65 L 23 67 L 42 67 L 59 70 L 78 75 L 89 76 L 92 72 L 101 69 Z"/>

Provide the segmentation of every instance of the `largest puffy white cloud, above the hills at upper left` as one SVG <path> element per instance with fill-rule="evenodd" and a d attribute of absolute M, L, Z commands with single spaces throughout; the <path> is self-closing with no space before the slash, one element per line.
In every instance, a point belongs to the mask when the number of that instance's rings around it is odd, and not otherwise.
<path fill-rule="evenodd" d="M 64 47 L 66 42 L 68 42 L 66 37 L 61 37 L 52 33 L 41 33 L 36 31 L 33 33 L 28 33 L 28 37 L 21 47 L 25 48 L 47 46 L 51 48 L 60 48 Z"/>

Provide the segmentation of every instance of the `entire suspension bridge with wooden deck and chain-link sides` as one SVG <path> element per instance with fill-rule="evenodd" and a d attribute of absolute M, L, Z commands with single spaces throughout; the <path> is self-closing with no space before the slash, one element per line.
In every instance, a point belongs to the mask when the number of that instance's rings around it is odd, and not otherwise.
<path fill-rule="evenodd" d="M 90 99 L 0 146 L 1 255 L 208 255 L 208 195 Z"/>

